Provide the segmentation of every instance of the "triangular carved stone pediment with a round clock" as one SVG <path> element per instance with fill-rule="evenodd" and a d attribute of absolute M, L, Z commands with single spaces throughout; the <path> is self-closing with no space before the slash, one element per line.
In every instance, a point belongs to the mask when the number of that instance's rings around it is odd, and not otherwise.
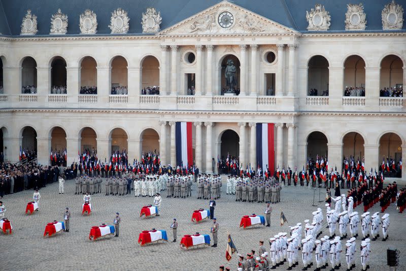
<path fill-rule="evenodd" d="M 226 16 L 220 24 L 219 19 Z M 227 19 L 231 18 L 232 23 Z M 158 35 L 235 35 L 296 34 L 294 29 L 260 16 L 228 1 L 222 1 L 171 27 Z"/>

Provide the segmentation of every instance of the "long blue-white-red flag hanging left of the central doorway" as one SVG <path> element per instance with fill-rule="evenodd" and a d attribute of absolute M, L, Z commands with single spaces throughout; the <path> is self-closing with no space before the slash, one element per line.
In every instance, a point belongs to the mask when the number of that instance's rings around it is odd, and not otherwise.
<path fill-rule="evenodd" d="M 177 122 L 175 127 L 176 163 L 190 167 L 193 165 L 192 123 Z"/>

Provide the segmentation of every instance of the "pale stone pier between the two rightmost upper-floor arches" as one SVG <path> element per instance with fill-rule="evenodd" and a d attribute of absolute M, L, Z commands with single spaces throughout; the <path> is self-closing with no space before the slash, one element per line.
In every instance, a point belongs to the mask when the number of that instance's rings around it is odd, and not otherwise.
<path fill-rule="evenodd" d="M 365 106 L 379 106 L 381 67 L 365 68 Z"/>

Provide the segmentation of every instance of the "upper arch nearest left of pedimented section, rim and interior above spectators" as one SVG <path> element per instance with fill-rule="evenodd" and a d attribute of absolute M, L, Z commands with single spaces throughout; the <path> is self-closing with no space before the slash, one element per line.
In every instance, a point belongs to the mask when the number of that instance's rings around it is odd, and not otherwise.
<path fill-rule="evenodd" d="M 159 58 L 153 54 L 145 55 L 140 62 L 141 88 L 159 86 Z"/>

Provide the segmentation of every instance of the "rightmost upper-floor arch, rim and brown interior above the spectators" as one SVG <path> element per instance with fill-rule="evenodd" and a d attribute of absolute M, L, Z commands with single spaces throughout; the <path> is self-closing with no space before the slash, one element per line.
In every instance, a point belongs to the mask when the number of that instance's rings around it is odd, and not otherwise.
<path fill-rule="evenodd" d="M 404 62 L 400 56 L 385 55 L 380 62 L 380 89 L 403 85 L 403 67 Z"/>

